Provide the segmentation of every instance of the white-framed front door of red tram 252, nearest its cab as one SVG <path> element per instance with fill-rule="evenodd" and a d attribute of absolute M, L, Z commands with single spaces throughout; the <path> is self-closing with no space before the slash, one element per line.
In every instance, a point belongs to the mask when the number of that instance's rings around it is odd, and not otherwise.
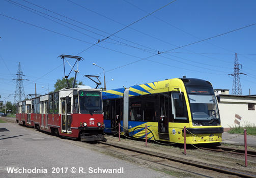
<path fill-rule="evenodd" d="M 62 132 L 71 133 L 71 98 L 61 98 Z"/>

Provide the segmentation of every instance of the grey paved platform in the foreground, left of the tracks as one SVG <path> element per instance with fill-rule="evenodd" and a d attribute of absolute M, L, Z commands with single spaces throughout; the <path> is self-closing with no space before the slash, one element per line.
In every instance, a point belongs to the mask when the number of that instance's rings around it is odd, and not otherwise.
<path fill-rule="evenodd" d="M 0 123 L 0 160 L 5 178 L 171 177 L 13 123 Z"/>

